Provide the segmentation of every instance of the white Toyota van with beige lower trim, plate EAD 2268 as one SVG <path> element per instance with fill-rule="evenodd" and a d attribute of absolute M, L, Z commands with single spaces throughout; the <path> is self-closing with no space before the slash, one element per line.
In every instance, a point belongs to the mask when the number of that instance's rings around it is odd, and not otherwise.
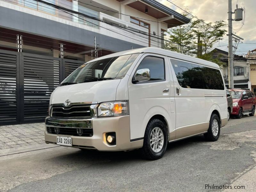
<path fill-rule="evenodd" d="M 134 49 L 85 63 L 52 92 L 45 142 L 99 151 L 140 148 L 154 160 L 172 141 L 199 134 L 218 140 L 227 108 L 217 64 Z"/>

